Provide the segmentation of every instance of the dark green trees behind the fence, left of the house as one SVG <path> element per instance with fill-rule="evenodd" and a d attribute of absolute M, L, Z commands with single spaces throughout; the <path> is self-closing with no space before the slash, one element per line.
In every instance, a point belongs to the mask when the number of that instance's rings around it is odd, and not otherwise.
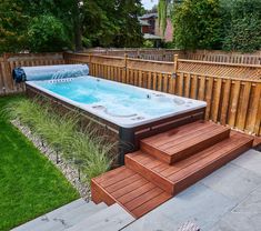
<path fill-rule="evenodd" d="M 2 0 L 0 52 L 139 47 L 140 0 Z"/>

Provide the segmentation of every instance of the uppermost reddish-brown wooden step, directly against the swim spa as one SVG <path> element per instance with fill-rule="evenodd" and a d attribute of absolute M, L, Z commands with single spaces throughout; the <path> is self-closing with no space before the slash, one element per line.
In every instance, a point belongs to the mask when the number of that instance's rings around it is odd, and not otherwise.
<path fill-rule="evenodd" d="M 141 140 L 141 151 L 167 163 L 178 162 L 229 138 L 230 129 L 197 121 Z"/>

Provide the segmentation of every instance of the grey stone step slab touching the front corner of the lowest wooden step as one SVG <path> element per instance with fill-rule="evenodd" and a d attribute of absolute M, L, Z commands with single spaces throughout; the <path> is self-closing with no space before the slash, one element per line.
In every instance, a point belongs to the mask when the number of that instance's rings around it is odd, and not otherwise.
<path fill-rule="evenodd" d="M 133 221 L 134 218 L 124 209 L 119 204 L 113 204 L 82 220 L 80 223 L 71 227 L 67 231 L 114 231 L 124 228 Z"/>

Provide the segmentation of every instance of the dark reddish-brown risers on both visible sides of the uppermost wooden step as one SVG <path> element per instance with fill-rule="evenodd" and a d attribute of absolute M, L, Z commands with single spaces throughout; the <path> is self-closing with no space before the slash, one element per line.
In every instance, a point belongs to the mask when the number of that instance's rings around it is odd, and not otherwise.
<path fill-rule="evenodd" d="M 194 154 L 199 151 L 202 151 L 202 150 L 229 138 L 229 135 L 230 135 L 230 129 L 227 129 L 227 130 L 224 130 L 213 137 L 210 137 L 201 142 L 193 144 L 193 145 L 190 145 L 187 149 L 174 153 L 173 155 L 170 155 L 170 154 L 168 154 L 168 153 L 165 153 L 165 152 L 163 152 L 163 151 L 161 151 L 161 150 L 159 150 L 159 149 L 157 149 L 145 142 L 142 142 L 142 141 L 141 141 L 141 150 L 143 152 L 145 152 L 147 154 L 153 155 L 158 160 L 161 160 L 165 163 L 171 164 L 171 163 L 184 160 L 184 159 L 191 157 L 192 154 Z"/>

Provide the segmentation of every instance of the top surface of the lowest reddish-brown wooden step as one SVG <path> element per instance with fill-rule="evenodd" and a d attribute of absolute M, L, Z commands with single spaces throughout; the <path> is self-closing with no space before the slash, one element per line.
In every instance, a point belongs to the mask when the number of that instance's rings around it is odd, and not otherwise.
<path fill-rule="evenodd" d="M 145 214 L 171 198 L 170 193 L 164 192 L 161 188 L 149 182 L 132 170 L 128 169 L 128 171 L 122 171 L 122 168 L 119 168 L 109 172 L 109 174 L 112 173 L 113 175 L 117 175 L 117 173 L 121 174 L 121 177 L 110 179 L 110 183 L 103 185 L 102 182 L 104 181 L 100 178 L 107 175 L 98 177 L 92 179 L 92 181 L 93 183 L 99 184 L 106 193 L 110 194 L 116 202 L 126 208 L 127 211 L 135 218 Z M 151 202 L 151 200 L 153 202 Z"/>

